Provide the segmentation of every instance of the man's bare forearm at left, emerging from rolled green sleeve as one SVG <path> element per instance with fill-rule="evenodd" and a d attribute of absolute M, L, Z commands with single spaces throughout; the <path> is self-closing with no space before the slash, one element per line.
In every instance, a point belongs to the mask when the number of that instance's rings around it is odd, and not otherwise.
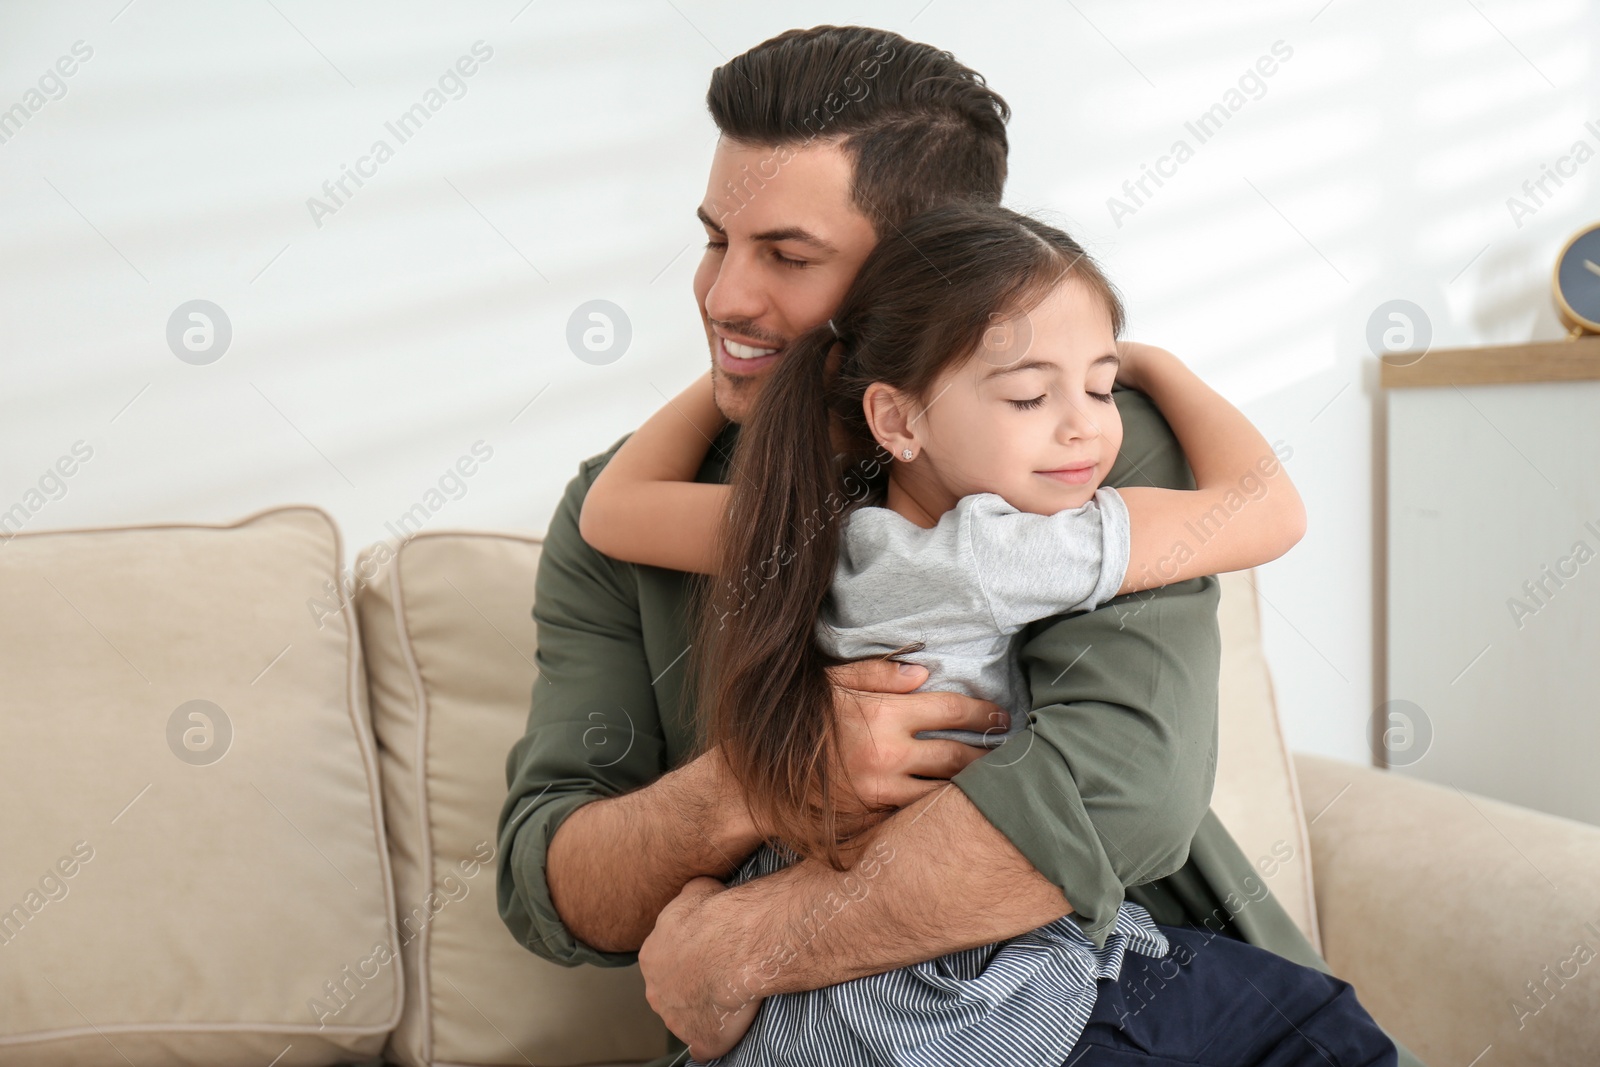
<path fill-rule="evenodd" d="M 566 929 L 637 952 L 696 877 L 726 878 L 760 845 L 714 750 L 645 789 L 578 808 L 550 840 L 546 877 Z"/>

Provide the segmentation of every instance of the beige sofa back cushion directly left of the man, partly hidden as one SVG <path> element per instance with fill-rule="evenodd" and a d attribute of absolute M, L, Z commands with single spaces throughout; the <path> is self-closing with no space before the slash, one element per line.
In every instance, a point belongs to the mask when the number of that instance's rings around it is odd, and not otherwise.
<path fill-rule="evenodd" d="M 538 672 L 539 542 L 422 533 L 357 560 L 373 723 L 395 865 L 405 1064 L 597 1064 L 666 1051 L 638 968 L 568 969 L 510 936 L 496 905 L 506 755 Z"/>

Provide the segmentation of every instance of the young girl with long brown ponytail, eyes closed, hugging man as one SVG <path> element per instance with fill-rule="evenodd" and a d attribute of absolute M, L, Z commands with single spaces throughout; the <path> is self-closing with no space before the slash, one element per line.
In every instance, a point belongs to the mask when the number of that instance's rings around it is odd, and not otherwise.
<path fill-rule="evenodd" d="M 1170 354 L 1118 352 L 1122 326 L 1115 291 L 1061 230 L 998 206 L 939 208 L 882 242 L 834 318 L 774 366 L 731 486 L 694 482 L 725 424 L 709 376 L 598 475 L 586 541 L 718 579 L 694 641 L 706 744 L 722 745 L 771 843 L 731 885 L 797 857 L 845 869 L 851 835 L 883 814 L 840 769 L 827 667 L 918 662 L 922 688 L 1010 712 L 989 736 L 918 737 L 1000 744 L 1029 726 L 1013 654 L 1024 625 L 1299 541 L 1304 509 L 1270 446 Z M 1102 485 L 1122 443 L 1117 381 L 1162 410 L 1194 491 Z M 1059 1065 L 1126 952 L 1168 952 L 1138 904 L 1122 904 L 1101 949 L 1067 915 L 771 997 L 715 1062 Z"/>

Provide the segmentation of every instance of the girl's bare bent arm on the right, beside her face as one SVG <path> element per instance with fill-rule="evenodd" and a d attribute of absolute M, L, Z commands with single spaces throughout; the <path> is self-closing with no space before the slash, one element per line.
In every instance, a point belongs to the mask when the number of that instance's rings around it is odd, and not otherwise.
<path fill-rule="evenodd" d="M 1117 490 L 1133 545 L 1120 593 L 1278 558 L 1306 534 L 1306 506 L 1272 446 L 1238 408 L 1165 349 L 1125 342 L 1117 379 L 1173 427 L 1195 490 Z"/>

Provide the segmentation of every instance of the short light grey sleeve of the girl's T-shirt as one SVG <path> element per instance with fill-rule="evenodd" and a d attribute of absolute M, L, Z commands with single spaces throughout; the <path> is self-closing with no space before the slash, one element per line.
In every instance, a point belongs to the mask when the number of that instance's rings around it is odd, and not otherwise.
<path fill-rule="evenodd" d="M 1128 571 L 1128 506 L 1110 486 L 1053 515 L 1019 512 L 984 493 L 966 501 L 965 534 L 1002 633 L 1046 616 L 1093 611 Z"/>

